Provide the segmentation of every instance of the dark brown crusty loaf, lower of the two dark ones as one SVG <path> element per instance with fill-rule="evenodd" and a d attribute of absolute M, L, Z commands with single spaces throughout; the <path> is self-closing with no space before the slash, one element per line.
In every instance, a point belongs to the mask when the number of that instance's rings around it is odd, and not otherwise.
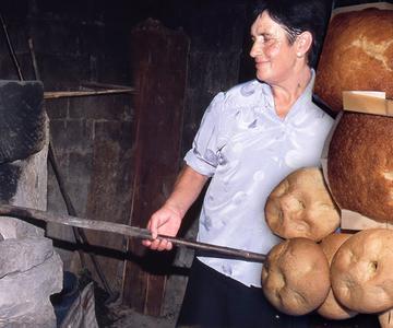
<path fill-rule="evenodd" d="M 393 221 L 393 118 L 343 113 L 329 147 L 327 179 L 342 209 Z"/>

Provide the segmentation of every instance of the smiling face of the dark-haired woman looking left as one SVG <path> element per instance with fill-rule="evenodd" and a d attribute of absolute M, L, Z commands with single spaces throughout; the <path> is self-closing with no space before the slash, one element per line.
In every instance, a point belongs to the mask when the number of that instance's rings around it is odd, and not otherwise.
<path fill-rule="evenodd" d="M 269 84 L 279 84 L 291 75 L 298 60 L 296 47 L 289 45 L 287 33 L 266 11 L 251 26 L 253 45 L 250 56 L 255 61 L 257 78 Z"/>

